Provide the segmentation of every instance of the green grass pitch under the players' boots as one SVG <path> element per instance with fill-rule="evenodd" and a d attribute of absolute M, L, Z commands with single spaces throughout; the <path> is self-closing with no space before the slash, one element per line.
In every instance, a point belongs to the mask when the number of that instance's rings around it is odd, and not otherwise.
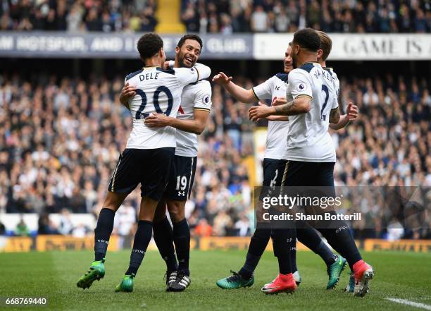
<path fill-rule="evenodd" d="M 146 253 L 133 293 L 114 293 L 127 269 L 130 251 L 108 252 L 106 276 L 83 291 L 77 279 L 87 271 L 93 252 L 0 253 L 0 297 L 45 297 L 47 307 L 0 307 L 1 310 L 421 310 L 392 303 L 401 298 L 431 305 L 431 254 L 363 252 L 375 278 L 365 298 L 343 292 L 346 268 L 335 290 L 325 289 L 325 264 L 313 252 L 298 252 L 303 283 L 294 295 L 265 295 L 260 288 L 277 276 L 277 262 L 266 252 L 251 288 L 222 290 L 215 281 L 238 271 L 245 251 L 192 251 L 192 283 L 183 293 L 166 293 L 165 264 L 156 251 Z M 430 309 L 428 309 L 430 310 Z"/>

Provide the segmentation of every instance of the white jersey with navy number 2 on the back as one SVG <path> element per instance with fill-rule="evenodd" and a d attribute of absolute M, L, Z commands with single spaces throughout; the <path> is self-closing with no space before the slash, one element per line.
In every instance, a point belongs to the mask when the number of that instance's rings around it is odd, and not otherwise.
<path fill-rule="evenodd" d="M 331 73 L 319 63 L 304 63 L 289 73 L 286 98 L 310 97 L 306 114 L 289 116 L 285 159 L 306 162 L 335 162 L 335 147 L 327 132 L 330 111 L 338 107 L 337 91 Z"/>

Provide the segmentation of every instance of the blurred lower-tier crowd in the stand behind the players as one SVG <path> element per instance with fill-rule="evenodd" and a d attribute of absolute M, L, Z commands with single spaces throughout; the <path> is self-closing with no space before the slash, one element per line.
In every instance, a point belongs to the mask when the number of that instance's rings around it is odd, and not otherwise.
<path fill-rule="evenodd" d="M 261 82 L 236 80 L 247 89 Z M 430 186 L 429 82 L 387 75 L 341 78 L 341 85 L 342 102 L 355 102 L 361 116 L 331 132 L 337 185 Z M 41 74 L 29 81 L 0 75 L 0 213 L 37 213 L 45 233 L 61 232 L 49 220 L 51 213 L 99 214 L 132 126 L 130 112 L 119 104 L 121 87 L 123 77 Z M 210 120 L 199 136 L 187 219 L 194 236 L 248 236 L 254 230 L 254 185 L 245 159 L 254 154 L 256 124 L 249 121 L 249 105 L 235 102 L 219 85 L 213 85 L 212 100 Z M 138 187 L 120 208 L 115 226 L 120 236 L 133 233 L 139 199 Z M 430 228 L 430 217 L 425 219 Z M 430 232 L 413 237 L 430 238 Z"/>

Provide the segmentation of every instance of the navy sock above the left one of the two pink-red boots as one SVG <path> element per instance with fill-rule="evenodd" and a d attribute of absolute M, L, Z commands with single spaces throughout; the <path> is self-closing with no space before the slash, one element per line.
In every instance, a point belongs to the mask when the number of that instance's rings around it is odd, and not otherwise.
<path fill-rule="evenodd" d="M 292 239 L 296 239 L 296 230 L 273 228 L 271 235 L 273 238 L 274 255 L 278 260 L 280 274 L 291 274 Z"/>

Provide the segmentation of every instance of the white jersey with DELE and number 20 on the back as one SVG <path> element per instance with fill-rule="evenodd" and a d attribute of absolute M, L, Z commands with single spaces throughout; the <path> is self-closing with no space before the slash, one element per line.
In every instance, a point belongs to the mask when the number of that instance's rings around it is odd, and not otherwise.
<path fill-rule="evenodd" d="M 162 68 L 144 67 L 135 73 L 130 73 L 125 82 L 137 87 L 136 95 L 130 101 L 133 128 L 127 140 L 126 148 L 157 149 L 175 147 L 175 128 L 149 128 L 144 120 L 149 114 L 165 114 L 176 117 L 180 107 L 181 93 L 185 85 L 206 79 L 211 69 L 199 64 L 194 68 Z"/>

